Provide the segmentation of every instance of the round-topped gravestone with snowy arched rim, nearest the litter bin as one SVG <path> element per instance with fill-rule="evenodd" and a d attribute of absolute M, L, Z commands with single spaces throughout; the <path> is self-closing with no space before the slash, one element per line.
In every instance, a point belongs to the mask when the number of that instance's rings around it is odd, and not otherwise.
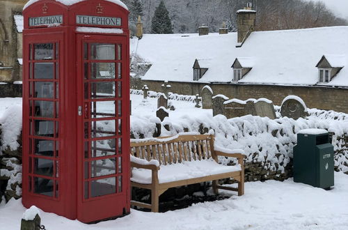
<path fill-rule="evenodd" d="M 293 118 L 297 120 L 298 118 L 305 118 L 307 107 L 303 100 L 297 96 L 290 95 L 287 96 L 281 105 L 280 114 L 284 117 Z"/>

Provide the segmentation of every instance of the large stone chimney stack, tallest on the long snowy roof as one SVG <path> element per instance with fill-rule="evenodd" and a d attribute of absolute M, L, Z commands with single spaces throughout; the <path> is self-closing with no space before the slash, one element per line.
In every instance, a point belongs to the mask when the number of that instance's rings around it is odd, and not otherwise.
<path fill-rule="evenodd" d="M 256 21 L 256 11 L 252 10 L 252 4 L 248 3 L 247 7 L 244 10 L 237 11 L 237 27 L 238 27 L 238 39 L 237 47 L 242 47 L 245 40 L 255 29 Z"/>

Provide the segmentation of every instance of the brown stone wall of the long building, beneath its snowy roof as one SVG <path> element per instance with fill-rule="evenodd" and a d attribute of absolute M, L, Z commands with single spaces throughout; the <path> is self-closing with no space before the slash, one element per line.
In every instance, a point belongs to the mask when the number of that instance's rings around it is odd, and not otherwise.
<path fill-rule="evenodd" d="M 161 91 L 159 81 L 143 81 L 152 91 Z M 203 83 L 169 82 L 171 91 L 183 95 L 200 94 Z M 260 84 L 208 84 L 214 95 L 223 94 L 228 98 L 247 100 L 248 98 L 267 98 L 274 105 L 281 105 L 287 95 L 297 95 L 306 102 L 307 107 L 334 110 L 348 113 L 347 102 L 343 100 L 348 95 L 348 88 L 333 88 L 325 86 L 276 86 Z"/>

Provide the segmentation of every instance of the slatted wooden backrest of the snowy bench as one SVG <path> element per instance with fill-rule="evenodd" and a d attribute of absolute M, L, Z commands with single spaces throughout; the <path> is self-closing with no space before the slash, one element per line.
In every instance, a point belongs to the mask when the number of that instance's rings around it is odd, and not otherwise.
<path fill-rule="evenodd" d="M 177 135 L 153 139 L 133 139 L 131 154 L 159 164 L 214 158 L 214 135 Z"/>

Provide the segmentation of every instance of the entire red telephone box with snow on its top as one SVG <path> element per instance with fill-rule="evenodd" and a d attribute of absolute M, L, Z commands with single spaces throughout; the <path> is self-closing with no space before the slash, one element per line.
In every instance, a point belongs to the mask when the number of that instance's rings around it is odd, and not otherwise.
<path fill-rule="evenodd" d="M 81 222 L 126 215 L 129 12 L 118 0 L 33 2 L 23 11 L 22 202 Z"/>

